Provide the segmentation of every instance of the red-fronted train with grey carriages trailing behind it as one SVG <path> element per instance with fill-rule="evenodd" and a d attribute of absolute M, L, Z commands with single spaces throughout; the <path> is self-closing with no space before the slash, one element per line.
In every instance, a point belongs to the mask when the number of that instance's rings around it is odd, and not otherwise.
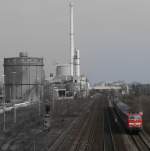
<path fill-rule="evenodd" d="M 114 102 L 114 107 L 129 132 L 142 130 L 143 112 L 131 112 L 130 107 L 121 101 Z"/>

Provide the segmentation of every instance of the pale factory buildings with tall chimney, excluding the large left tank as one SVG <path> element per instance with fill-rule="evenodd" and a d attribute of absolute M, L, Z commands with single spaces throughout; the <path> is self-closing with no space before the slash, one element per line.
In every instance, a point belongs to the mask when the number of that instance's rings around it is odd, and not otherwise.
<path fill-rule="evenodd" d="M 51 81 L 51 94 L 57 99 L 84 97 L 88 94 L 89 83 L 80 75 L 80 51 L 74 44 L 74 4 L 70 7 L 70 63 L 56 66 L 56 76 Z"/>

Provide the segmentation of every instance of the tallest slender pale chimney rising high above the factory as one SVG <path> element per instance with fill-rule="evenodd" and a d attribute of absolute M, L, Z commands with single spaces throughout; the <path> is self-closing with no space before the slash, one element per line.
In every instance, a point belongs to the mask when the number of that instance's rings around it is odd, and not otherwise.
<path fill-rule="evenodd" d="M 70 74 L 73 76 L 73 62 L 74 62 L 74 4 L 72 1 L 69 2 L 70 7 Z"/>

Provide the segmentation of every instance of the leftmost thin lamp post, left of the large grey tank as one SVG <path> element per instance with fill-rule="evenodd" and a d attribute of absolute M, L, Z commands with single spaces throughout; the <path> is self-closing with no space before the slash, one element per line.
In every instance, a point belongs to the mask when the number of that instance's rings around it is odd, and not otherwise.
<path fill-rule="evenodd" d="M 6 131 L 6 114 L 5 114 L 5 75 L 2 75 L 3 87 L 2 87 L 2 94 L 3 94 L 3 113 L 4 113 L 4 122 L 3 122 L 3 130 Z"/>

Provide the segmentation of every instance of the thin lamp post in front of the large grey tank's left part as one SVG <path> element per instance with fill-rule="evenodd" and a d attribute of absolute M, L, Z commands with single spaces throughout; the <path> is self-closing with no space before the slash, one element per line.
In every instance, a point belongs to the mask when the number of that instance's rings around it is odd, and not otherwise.
<path fill-rule="evenodd" d="M 13 106 L 14 106 L 14 123 L 16 123 L 16 106 L 15 106 L 15 101 L 16 101 L 16 89 L 15 89 L 15 82 L 16 82 L 16 78 L 15 78 L 15 74 L 16 72 L 12 72 L 13 74 Z"/>

